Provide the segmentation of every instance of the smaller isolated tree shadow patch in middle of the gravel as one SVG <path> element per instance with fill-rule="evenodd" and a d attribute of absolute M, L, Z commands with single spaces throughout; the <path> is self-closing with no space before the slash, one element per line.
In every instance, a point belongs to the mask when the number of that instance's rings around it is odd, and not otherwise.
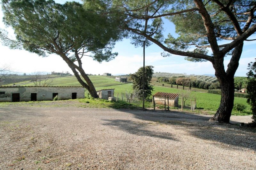
<path fill-rule="evenodd" d="M 132 120 L 120 120 L 120 119 L 104 120 L 104 121 L 106 121 L 106 123 L 104 123 L 103 125 L 117 127 L 122 131 L 131 133 L 134 135 L 176 140 L 172 137 L 171 133 L 149 130 L 148 125 L 150 125 L 150 123 L 134 122 Z"/>

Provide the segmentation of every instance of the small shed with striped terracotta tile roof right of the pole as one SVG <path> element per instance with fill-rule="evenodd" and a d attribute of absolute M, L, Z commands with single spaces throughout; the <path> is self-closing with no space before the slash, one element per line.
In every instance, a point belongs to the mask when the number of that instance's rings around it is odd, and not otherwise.
<path fill-rule="evenodd" d="M 179 94 L 177 93 L 164 93 L 164 92 L 156 92 L 153 95 L 156 104 L 168 104 L 169 99 L 169 106 L 178 107 L 179 105 Z"/>

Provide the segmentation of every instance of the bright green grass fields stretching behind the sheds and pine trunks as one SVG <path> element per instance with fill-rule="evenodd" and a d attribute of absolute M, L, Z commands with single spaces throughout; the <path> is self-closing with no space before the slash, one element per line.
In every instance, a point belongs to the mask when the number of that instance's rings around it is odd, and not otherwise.
<path fill-rule="evenodd" d="M 119 95 L 118 98 L 121 97 L 121 93 L 127 92 L 132 93 L 132 83 L 120 83 L 115 81 L 114 76 L 89 76 L 89 78 L 92 80 L 96 90 L 100 89 L 115 89 L 115 97 L 117 97 L 117 94 Z M 19 84 L 19 83 L 15 83 Z M 164 84 L 156 82 L 155 79 L 152 79 L 152 85 L 154 85 L 154 91 L 152 93 L 155 94 L 156 92 L 168 92 L 168 93 L 184 93 L 187 92 L 190 96 L 190 98 L 196 98 L 196 106 L 198 109 L 196 109 L 196 112 L 207 112 L 209 114 L 214 114 L 216 110 L 218 109 L 220 105 L 220 95 L 217 94 L 210 94 L 206 93 L 206 90 L 204 89 L 193 89 L 191 91 L 188 91 L 187 87 L 185 87 L 185 90 L 182 89 L 180 86 L 179 89 L 176 88 L 176 86 L 173 86 L 171 88 L 170 84 Z M 24 86 L 33 86 L 33 83 L 25 84 Z M 54 81 L 52 82 L 51 86 L 81 86 L 78 81 L 76 80 L 75 76 L 67 76 L 67 77 L 56 77 L 54 78 Z M 85 96 L 87 97 L 88 92 L 85 90 Z M 185 105 L 190 106 L 190 98 L 186 101 Z M 124 95 L 124 101 L 125 101 L 125 95 Z M 149 106 L 151 104 L 150 101 L 152 101 L 152 97 L 149 97 L 149 102 L 147 105 Z M 246 106 L 246 109 L 243 112 L 238 112 L 233 110 L 233 115 L 248 115 L 251 114 L 251 107 L 249 104 L 246 103 L 246 98 L 240 98 L 235 97 L 234 103 L 236 104 L 244 104 Z M 152 104 L 151 104 L 152 105 Z M 181 105 L 181 101 L 179 100 L 179 105 Z"/>

